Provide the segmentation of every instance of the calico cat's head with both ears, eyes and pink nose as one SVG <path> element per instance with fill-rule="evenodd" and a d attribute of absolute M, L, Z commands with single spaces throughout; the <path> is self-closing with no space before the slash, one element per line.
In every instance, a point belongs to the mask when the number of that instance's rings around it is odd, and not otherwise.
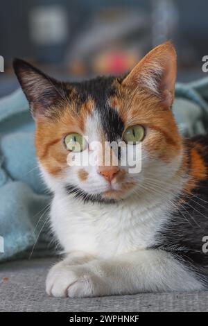
<path fill-rule="evenodd" d="M 60 83 L 22 60 L 14 67 L 35 119 L 37 158 L 53 191 L 114 203 L 150 192 L 151 179 L 171 180 L 182 151 L 171 112 L 172 44 L 157 46 L 122 78 Z M 141 141 L 139 173 L 130 171 L 135 141 Z M 124 154 L 128 160 L 121 165 Z"/>

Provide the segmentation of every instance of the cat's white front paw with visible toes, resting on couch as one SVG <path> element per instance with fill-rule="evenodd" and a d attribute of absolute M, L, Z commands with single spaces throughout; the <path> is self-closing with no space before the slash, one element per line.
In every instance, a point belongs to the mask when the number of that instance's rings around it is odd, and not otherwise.
<path fill-rule="evenodd" d="M 51 268 L 46 278 L 46 292 L 54 297 L 86 298 L 98 295 L 99 279 L 83 266 Z"/>

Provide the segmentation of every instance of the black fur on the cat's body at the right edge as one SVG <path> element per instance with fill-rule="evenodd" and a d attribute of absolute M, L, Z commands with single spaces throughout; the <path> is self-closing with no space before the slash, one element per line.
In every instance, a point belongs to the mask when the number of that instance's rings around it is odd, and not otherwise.
<path fill-rule="evenodd" d="M 195 137 L 187 142 L 189 153 L 194 143 L 208 146 L 208 137 Z M 207 162 L 208 168 L 206 151 L 199 154 Z M 190 170 L 191 163 L 188 165 Z M 205 244 L 203 237 L 208 236 L 208 179 L 199 180 L 191 196 L 184 193 L 184 197 L 182 194 L 178 200 L 181 198 L 184 198 L 184 203 L 177 204 L 178 208 L 159 230 L 153 248 L 171 252 L 208 286 L 208 252 L 202 250 Z"/>

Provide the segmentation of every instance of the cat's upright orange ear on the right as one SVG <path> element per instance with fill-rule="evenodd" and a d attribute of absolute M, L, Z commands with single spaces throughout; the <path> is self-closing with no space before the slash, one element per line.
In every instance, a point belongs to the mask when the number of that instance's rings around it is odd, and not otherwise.
<path fill-rule="evenodd" d="M 177 57 L 171 42 L 150 51 L 123 80 L 124 85 L 148 89 L 171 107 L 175 94 Z"/>

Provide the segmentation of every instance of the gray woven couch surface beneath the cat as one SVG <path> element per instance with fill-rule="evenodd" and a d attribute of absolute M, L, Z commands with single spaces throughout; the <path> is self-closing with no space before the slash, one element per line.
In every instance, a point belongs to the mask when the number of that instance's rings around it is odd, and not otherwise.
<path fill-rule="evenodd" d="M 54 261 L 47 258 L 1 264 L 0 311 L 208 311 L 208 291 L 49 298 L 45 278 Z"/>

